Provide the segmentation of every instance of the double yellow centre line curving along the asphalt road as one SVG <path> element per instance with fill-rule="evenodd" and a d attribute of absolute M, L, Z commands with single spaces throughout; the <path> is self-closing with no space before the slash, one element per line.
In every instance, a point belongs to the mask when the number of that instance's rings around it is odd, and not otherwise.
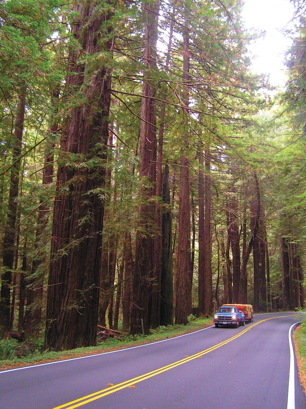
<path fill-rule="evenodd" d="M 130 387 L 138 382 L 141 382 L 145 379 L 149 379 L 152 378 L 155 375 L 159 375 L 159 373 L 163 373 L 165 371 L 168 371 L 169 369 L 175 368 L 176 366 L 185 364 L 186 362 L 190 362 L 198 357 L 200 357 L 201 355 L 206 355 L 209 352 L 214 351 L 217 348 L 220 348 L 221 346 L 228 344 L 231 341 L 234 341 L 234 339 L 241 337 L 241 335 L 245 334 L 248 330 L 250 330 L 251 328 L 255 327 L 256 325 L 260 324 L 261 322 L 264 321 L 269 321 L 270 319 L 276 319 L 276 318 L 284 318 L 284 317 L 293 317 L 296 314 L 292 314 L 292 315 L 283 315 L 281 317 L 271 317 L 271 318 L 266 318 L 266 319 L 262 319 L 261 321 L 257 321 L 255 322 L 255 324 L 252 324 L 251 326 L 248 326 L 248 328 L 243 329 L 241 332 L 239 332 L 238 334 L 226 339 L 225 341 L 220 342 L 219 344 L 216 344 L 214 346 L 211 346 L 210 348 L 205 349 L 204 351 L 198 352 L 194 355 L 190 355 L 189 357 L 185 357 L 179 361 L 176 362 L 172 362 L 172 364 L 168 364 L 166 366 L 163 366 L 162 368 L 159 369 L 155 369 L 154 371 L 151 372 L 147 372 L 144 373 L 143 375 L 139 375 L 136 378 L 132 378 L 129 380 L 126 380 L 124 382 L 121 382 L 119 384 L 113 385 L 109 388 L 105 388 L 102 389 L 101 391 L 97 391 L 94 393 L 91 393 L 90 395 L 87 396 L 83 396 L 83 398 L 78 398 L 76 400 L 72 400 L 71 402 L 65 403 L 64 405 L 60 405 L 60 406 L 56 406 L 53 409 L 74 409 L 77 407 L 80 407 L 82 405 L 86 405 L 89 402 L 92 402 L 93 400 L 97 400 L 100 398 L 103 398 L 103 396 L 107 396 L 111 393 L 114 393 L 116 391 L 120 391 L 121 389 Z"/>

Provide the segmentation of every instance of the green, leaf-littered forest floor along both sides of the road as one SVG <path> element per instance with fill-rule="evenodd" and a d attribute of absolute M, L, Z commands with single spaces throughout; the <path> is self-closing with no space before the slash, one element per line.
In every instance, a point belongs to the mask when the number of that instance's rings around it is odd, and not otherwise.
<path fill-rule="evenodd" d="M 60 352 L 43 351 L 41 346 L 42 340 L 40 340 L 40 344 L 37 341 L 35 344 L 30 341 L 20 343 L 15 339 L 2 339 L 0 340 L 0 370 L 114 351 L 116 349 L 146 344 L 165 338 L 177 337 L 178 335 L 211 325 L 213 325 L 212 317 L 197 318 L 192 319 L 187 325 L 160 326 L 156 330 L 151 330 L 150 334 L 144 337 L 143 335 L 126 334 L 123 335 L 121 339 L 108 338 L 103 342 L 99 342 L 97 346 Z M 294 331 L 293 342 L 297 356 L 299 382 L 302 384 L 306 394 L 306 321 L 303 321 Z"/>

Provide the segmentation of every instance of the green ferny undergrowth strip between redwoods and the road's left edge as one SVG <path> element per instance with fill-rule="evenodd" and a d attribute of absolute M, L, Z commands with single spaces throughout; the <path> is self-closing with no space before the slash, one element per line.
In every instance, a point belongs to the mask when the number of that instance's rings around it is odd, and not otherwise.
<path fill-rule="evenodd" d="M 203 328 L 212 324 L 212 318 L 197 318 L 190 317 L 190 322 L 187 325 L 169 325 L 160 326 L 154 330 L 150 330 L 149 335 L 143 337 L 139 335 L 123 335 L 121 340 L 108 338 L 106 341 L 99 342 L 97 346 L 76 348 L 69 351 L 44 351 L 43 339 L 38 341 L 18 342 L 15 339 L 2 339 L 0 341 L 0 369 L 5 369 L 11 366 L 22 366 L 34 364 L 38 362 L 46 362 L 51 360 L 67 359 L 83 355 L 92 355 L 116 349 L 126 348 L 128 346 L 145 344 L 154 342 L 160 339 L 172 338 L 183 333 Z M 20 355 L 23 349 L 24 355 Z"/>

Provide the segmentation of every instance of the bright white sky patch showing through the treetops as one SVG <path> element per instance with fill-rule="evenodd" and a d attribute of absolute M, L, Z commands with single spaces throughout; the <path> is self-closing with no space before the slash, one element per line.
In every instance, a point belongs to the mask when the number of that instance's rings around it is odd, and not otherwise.
<path fill-rule="evenodd" d="M 270 74 L 270 83 L 282 88 L 286 81 L 284 56 L 291 41 L 281 29 L 293 17 L 290 0 L 245 0 L 242 17 L 248 28 L 265 30 L 263 38 L 249 49 L 256 57 L 252 60 L 252 71 L 257 74 Z"/>

